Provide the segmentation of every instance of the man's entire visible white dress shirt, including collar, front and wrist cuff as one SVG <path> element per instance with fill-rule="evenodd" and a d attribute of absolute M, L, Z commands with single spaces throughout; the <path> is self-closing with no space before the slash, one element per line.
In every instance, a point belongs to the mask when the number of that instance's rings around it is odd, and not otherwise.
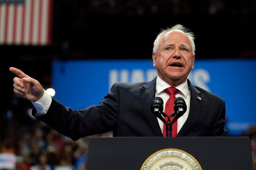
<path fill-rule="evenodd" d="M 169 99 L 169 94 L 167 94 L 164 90 L 168 87 L 171 87 L 168 85 L 164 80 L 162 80 L 160 77 L 157 76 L 156 78 L 156 97 L 161 97 L 164 101 L 164 109 L 165 109 L 165 103 Z M 186 104 L 187 104 L 187 111 L 184 113 L 183 116 L 181 116 L 178 119 L 177 123 L 177 133 L 180 131 L 181 127 L 183 124 L 186 122 L 188 118 L 188 112 L 189 112 L 189 106 L 190 106 L 190 91 L 188 90 L 188 83 L 185 81 L 181 85 L 178 85 L 175 87 L 178 89 L 180 92 L 178 92 L 175 97 L 182 97 L 184 98 Z M 44 95 L 41 99 L 37 100 L 36 102 L 32 101 L 32 104 L 37 110 L 36 116 L 42 116 L 47 113 L 49 110 L 50 106 L 52 103 L 52 97 L 44 91 Z M 148 106 L 150 107 L 150 106 Z M 164 122 L 162 122 L 159 118 L 157 118 L 159 126 L 161 128 L 161 131 L 163 133 L 163 127 L 164 127 Z"/>

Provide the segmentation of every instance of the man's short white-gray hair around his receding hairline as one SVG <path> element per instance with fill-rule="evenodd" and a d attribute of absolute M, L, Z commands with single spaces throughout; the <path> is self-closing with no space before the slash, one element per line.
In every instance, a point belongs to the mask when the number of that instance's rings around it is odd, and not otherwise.
<path fill-rule="evenodd" d="M 190 41 L 190 44 L 192 46 L 192 52 L 193 54 L 195 54 L 195 50 L 196 50 L 196 47 L 195 47 L 195 42 L 194 42 L 194 33 L 192 32 L 189 32 L 189 30 L 183 26 L 183 25 L 180 25 L 180 24 L 177 24 L 175 26 L 172 26 L 171 28 L 167 28 L 167 29 L 163 29 L 156 37 L 156 40 L 154 41 L 154 48 L 153 48 L 153 52 L 156 52 L 157 51 L 157 48 L 160 44 L 160 41 L 161 39 L 164 37 L 167 36 L 167 33 L 170 33 L 171 31 L 180 31 L 182 33 L 185 33 L 187 36 L 188 36 L 188 39 Z"/>

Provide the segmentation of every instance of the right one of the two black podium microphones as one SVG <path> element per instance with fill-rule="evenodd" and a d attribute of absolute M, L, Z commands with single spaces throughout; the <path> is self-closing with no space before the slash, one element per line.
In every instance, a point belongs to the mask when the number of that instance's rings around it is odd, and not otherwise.
<path fill-rule="evenodd" d="M 174 101 L 174 112 L 177 115 L 173 118 L 172 123 L 177 121 L 187 111 L 187 105 L 182 97 L 177 97 Z"/>

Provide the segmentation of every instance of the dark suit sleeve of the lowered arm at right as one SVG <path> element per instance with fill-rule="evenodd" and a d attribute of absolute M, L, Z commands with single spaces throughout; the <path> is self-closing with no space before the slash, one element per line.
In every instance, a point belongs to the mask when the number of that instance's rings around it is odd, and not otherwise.
<path fill-rule="evenodd" d="M 214 129 L 212 134 L 213 136 L 220 136 L 220 137 L 228 136 L 227 130 L 224 129 L 225 115 L 226 115 L 226 106 L 225 106 L 225 101 L 222 100 L 220 111 L 214 124 Z"/>

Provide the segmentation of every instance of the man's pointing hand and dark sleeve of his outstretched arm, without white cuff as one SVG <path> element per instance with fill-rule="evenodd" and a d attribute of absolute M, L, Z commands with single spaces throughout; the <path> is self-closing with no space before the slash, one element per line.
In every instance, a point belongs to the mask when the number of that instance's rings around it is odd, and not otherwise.
<path fill-rule="evenodd" d="M 32 102 L 40 101 L 44 95 L 42 85 L 19 69 L 11 67 L 9 70 L 19 76 L 13 79 L 13 91 Z M 111 91 L 98 106 L 93 105 L 83 110 L 72 110 L 57 100 L 51 99 L 49 109 L 44 111 L 44 114 L 38 116 L 37 111 L 39 110 L 34 108 L 32 115 L 73 140 L 106 133 L 115 127 L 119 101 L 117 84 L 112 86 Z"/>

